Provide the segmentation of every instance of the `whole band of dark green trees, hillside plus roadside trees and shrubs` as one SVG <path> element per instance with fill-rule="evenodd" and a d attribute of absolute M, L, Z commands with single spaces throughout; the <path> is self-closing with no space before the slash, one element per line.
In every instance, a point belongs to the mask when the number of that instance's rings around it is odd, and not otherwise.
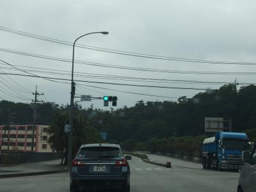
<path fill-rule="evenodd" d="M 69 106 L 42 103 L 37 106 L 37 122 L 51 124 L 51 142 L 56 150 L 65 151 L 67 135 L 63 125 L 68 122 Z M 15 122 L 32 122 L 33 104 L 0 102 L 0 122 L 6 123 L 8 109 L 16 113 Z M 121 143 L 125 148 L 145 149 L 152 152 L 178 153 L 188 157 L 200 152 L 200 144 L 212 133 L 204 131 L 205 117 L 232 119 L 236 132 L 246 132 L 256 139 L 256 86 L 225 84 L 217 90 L 197 93 L 191 98 L 180 97 L 177 101 L 143 101 L 134 106 L 113 109 L 83 109 L 76 105 L 74 146 L 80 143 L 102 141 L 99 132 L 107 132 L 104 142 Z M 99 124 L 102 120 L 102 124 Z M 225 125 L 227 126 L 227 125 Z M 193 152 L 193 154 L 189 154 Z"/>

